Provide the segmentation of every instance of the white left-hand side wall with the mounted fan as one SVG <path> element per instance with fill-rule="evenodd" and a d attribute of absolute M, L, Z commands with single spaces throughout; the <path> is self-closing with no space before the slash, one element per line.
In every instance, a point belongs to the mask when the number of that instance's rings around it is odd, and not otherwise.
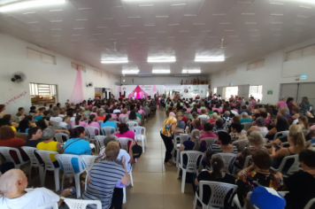
<path fill-rule="evenodd" d="M 47 54 L 56 56 L 57 64 L 43 64 L 39 60 L 27 58 L 27 47 L 39 50 Z M 15 115 L 19 106 L 29 111 L 31 98 L 28 85 L 30 82 L 57 84 L 58 102 L 65 104 L 73 92 L 73 85 L 77 71 L 71 67 L 71 62 L 86 66 L 86 73 L 81 72 L 84 98 L 93 98 L 95 88 L 111 88 L 115 92 L 115 75 L 104 73 L 102 77 L 94 75 L 94 69 L 84 63 L 71 58 L 66 58 L 50 50 L 42 49 L 32 43 L 27 43 L 15 39 L 8 35 L 0 34 L 0 104 L 5 104 L 12 97 L 18 96 L 22 92 L 27 92 L 25 96 L 19 97 L 6 106 L 6 111 Z M 21 71 L 27 74 L 27 80 L 23 83 L 13 83 L 11 75 Z M 93 82 L 93 87 L 86 87 L 88 82 Z"/>

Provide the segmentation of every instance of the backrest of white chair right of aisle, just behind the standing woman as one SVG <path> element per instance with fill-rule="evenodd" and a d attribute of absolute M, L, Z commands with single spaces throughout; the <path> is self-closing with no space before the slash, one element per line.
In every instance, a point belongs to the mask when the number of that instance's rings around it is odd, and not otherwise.
<path fill-rule="evenodd" d="M 201 166 L 202 159 L 204 158 L 204 152 L 201 151 L 181 151 L 181 165 L 184 159 L 184 154 L 187 156 L 186 170 L 198 170 Z M 199 159 L 199 163 L 198 163 Z M 197 165 L 197 163 L 199 165 Z"/>

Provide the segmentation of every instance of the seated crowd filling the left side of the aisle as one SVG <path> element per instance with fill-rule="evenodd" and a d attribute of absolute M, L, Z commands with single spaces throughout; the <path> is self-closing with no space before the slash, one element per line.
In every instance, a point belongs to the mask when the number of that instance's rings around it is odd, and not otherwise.
<path fill-rule="evenodd" d="M 78 197 L 100 200 L 102 208 L 122 208 L 123 189 L 130 183 L 132 163 L 142 152 L 128 122 L 143 125 L 144 120 L 150 117 L 149 104 L 147 99 L 109 99 L 65 104 L 65 108 L 60 104 L 32 106 L 28 113 L 19 108 L 15 121 L 0 104 L 0 155 L 3 159 L 0 161 L 0 208 L 35 208 L 52 202 L 61 205 L 61 197 L 72 194 L 71 190 L 63 190 L 57 195 L 45 188 L 27 188 L 27 175 L 21 169 L 15 169 L 16 165 L 29 160 L 26 147 L 36 149 L 34 154 L 41 166 L 47 163 L 45 160 L 50 160 L 55 168 L 61 170 L 64 165 L 55 155 L 95 156 L 96 162 L 88 172 L 87 182 L 84 181 L 85 173 L 81 173 L 86 165 L 80 165 L 78 158 L 71 159 L 73 172 L 81 174 L 81 186 L 87 183 L 87 189 Z M 111 133 L 102 129 L 108 127 L 112 128 Z M 93 128 L 92 133 L 90 128 Z M 96 138 L 97 135 L 102 137 Z M 120 144 L 122 137 L 130 140 L 127 150 L 123 150 Z M 14 163 L 5 159 L 3 148 L 18 149 L 19 153 L 10 150 L 10 159 Z M 54 151 L 56 154 L 50 153 L 49 159 L 42 159 L 40 151 Z M 95 208 L 93 205 L 88 207 Z"/>

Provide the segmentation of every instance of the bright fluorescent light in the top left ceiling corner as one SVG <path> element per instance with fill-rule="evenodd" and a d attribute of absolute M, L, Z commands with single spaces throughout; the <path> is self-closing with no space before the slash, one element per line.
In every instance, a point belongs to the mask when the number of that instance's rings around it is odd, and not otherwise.
<path fill-rule="evenodd" d="M 27 9 L 32 7 L 47 6 L 53 4 L 64 4 L 65 0 L 32 0 L 21 1 L 12 4 L 4 4 L 0 7 L 0 12 L 10 12 L 15 10 Z"/>

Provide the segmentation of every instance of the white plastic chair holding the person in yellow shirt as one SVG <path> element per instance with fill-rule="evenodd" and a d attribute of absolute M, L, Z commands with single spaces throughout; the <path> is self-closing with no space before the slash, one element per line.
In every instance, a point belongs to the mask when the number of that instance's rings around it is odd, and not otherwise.
<path fill-rule="evenodd" d="M 44 151 L 44 150 L 37 150 L 36 152 L 41 156 L 42 161 L 45 163 L 41 185 L 45 184 L 46 171 L 54 171 L 55 188 L 56 188 L 56 191 L 60 190 L 60 182 L 59 182 L 60 165 L 59 167 L 56 168 L 50 159 L 50 154 L 58 154 L 58 152 L 57 151 Z"/>

